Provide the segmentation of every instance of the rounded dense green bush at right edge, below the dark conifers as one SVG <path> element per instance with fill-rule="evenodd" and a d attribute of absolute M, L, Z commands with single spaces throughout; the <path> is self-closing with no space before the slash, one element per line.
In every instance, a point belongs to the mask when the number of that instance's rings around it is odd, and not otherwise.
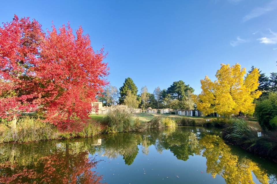
<path fill-rule="evenodd" d="M 276 119 L 274 119 L 277 116 L 276 92 L 271 92 L 268 96 L 264 96 L 256 101 L 255 116 L 257 116 L 259 124 L 263 129 L 273 130 L 277 128 Z"/>

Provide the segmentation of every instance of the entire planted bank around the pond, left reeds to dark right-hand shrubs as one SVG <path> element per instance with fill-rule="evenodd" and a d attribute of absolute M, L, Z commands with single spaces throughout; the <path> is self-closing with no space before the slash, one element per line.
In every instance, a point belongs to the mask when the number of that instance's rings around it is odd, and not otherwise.
<path fill-rule="evenodd" d="M 102 133 L 145 131 L 165 127 L 175 129 L 177 126 L 220 127 L 223 138 L 229 143 L 239 145 L 255 154 L 277 159 L 277 133 L 263 132 L 262 137 L 257 137 L 257 129 L 250 128 L 249 124 L 249 121 L 238 118 L 132 114 L 124 109 L 113 109 L 105 115 L 91 114 L 87 123 L 75 125 L 78 126 L 75 131 L 58 130 L 53 124 L 45 123 L 35 116 L 19 118 L 16 129 L 12 129 L 10 121 L 1 120 L 0 143 L 93 137 Z"/>

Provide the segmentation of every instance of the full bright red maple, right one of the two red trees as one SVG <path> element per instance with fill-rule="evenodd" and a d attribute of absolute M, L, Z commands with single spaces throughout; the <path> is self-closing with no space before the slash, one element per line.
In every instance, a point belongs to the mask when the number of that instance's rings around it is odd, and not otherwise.
<path fill-rule="evenodd" d="M 35 72 L 42 84 L 42 100 L 46 121 L 68 128 L 76 119 L 85 120 L 91 102 L 108 82 L 103 49 L 94 52 L 88 35 L 81 26 L 76 30 L 63 25 L 48 31 L 40 45 L 40 64 Z"/>

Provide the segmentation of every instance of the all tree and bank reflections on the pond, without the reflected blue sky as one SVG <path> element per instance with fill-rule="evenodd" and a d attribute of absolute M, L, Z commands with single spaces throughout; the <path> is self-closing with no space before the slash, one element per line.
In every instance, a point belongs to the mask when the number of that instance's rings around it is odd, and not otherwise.
<path fill-rule="evenodd" d="M 205 157 L 206 172 L 214 178 L 222 176 L 226 183 L 254 183 L 253 177 L 260 183 L 276 181 L 275 164 L 267 165 L 226 145 L 219 135 L 216 129 L 176 128 L 108 134 L 95 139 L 2 144 L 0 183 L 100 183 L 102 176 L 96 173 L 96 166 L 101 159 L 122 156 L 125 164 L 131 165 L 138 154 L 147 156 L 151 145 L 156 154 L 170 150 L 179 160 Z"/>

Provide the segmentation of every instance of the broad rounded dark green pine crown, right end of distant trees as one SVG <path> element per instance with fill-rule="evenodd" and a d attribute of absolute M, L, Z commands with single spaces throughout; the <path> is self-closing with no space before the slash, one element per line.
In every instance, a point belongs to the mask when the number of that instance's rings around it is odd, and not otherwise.
<path fill-rule="evenodd" d="M 183 100 L 188 95 L 188 91 L 194 92 L 194 89 L 190 85 L 186 85 L 184 81 L 175 81 L 169 88 L 167 93 L 171 95 L 172 99 Z"/>

